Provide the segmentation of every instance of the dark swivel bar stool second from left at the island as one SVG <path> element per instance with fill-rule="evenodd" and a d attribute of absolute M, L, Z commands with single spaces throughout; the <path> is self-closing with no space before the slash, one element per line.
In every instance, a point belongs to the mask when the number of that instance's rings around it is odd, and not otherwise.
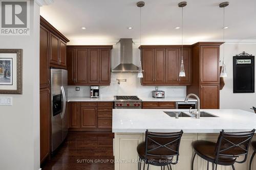
<path fill-rule="evenodd" d="M 194 168 L 196 155 L 207 161 L 207 170 L 209 162 L 212 163 L 212 170 L 217 169 L 217 165 L 232 166 L 234 163 L 244 163 L 247 159 L 248 148 L 255 129 L 249 132 L 227 133 L 222 130 L 217 143 L 198 140 L 193 143 L 195 154 L 192 160 L 191 169 Z M 245 156 L 243 161 L 236 161 L 237 157 Z M 216 166 L 215 166 L 216 164 Z"/>

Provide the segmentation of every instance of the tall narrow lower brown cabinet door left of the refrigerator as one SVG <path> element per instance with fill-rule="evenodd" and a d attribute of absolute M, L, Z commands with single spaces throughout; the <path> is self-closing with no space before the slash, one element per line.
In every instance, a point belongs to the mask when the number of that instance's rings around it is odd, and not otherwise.
<path fill-rule="evenodd" d="M 40 90 L 40 162 L 50 154 L 50 107 L 49 88 Z"/>

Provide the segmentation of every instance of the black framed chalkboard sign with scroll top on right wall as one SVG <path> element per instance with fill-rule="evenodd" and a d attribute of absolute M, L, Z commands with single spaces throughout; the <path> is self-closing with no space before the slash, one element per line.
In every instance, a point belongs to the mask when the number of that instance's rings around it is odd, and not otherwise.
<path fill-rule="evenodd" d="M 233 57 L 233 93 L 254 93 L 254 56 L 245 52 Z"/>

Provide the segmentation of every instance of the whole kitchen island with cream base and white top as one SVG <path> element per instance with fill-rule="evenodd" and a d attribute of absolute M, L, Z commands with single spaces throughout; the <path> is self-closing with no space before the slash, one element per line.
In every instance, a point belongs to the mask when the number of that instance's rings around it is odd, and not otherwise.
<path fill-rule="evenodd" d="M 250 131 L 256 129 L 256 114 L 243 110 L 206 110 L 218 117 L 170 117 L 165 112 L 188 110 L 163 110 L 163 109 L 113 109 L 112 131 L 115 133 L 114 156 L 115 170 L 137 169 L 138 159 L 137 145 L 144 141 L 145 131 L 152 132 L 176 132 L 181 129 L 184 134 L 180 144 L 179 163 L 173 166 L 176 170 L 188 170 L 191 168 L 191 159 L 194 154 L 191 143 L 196 140 L 217 141 L 219 132 L 224 129 L 227 132 Z M 253 138 L 256 140 L 256 137 Z M 249 159 L 252 149 L 249 150 L 247 161 L 243 164 L 235 164 L 237 170 L 249 169 Z M 239 160 L 242 158 L 239 158 Z M 207 162 L 198 156 L 195 159 L 194 169 L 206 169 Z M 218 169 L 230 169 L 231 166 L 218 166 Z M 150 166 L 150 169 L 160 169 Z M 252 164 L 256 169 L 256 159 Z"/>

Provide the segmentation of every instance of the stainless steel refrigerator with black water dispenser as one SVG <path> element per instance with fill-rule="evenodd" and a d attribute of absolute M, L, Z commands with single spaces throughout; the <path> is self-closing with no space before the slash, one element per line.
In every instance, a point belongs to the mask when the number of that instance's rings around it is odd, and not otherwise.
<path fill-rule="evenodd" d="M 65 69 L 51 69 L 51 115 L 52 115 L 52 148 L 54 152 L 68 134 L 67 109 L 68 71 Z"/>

